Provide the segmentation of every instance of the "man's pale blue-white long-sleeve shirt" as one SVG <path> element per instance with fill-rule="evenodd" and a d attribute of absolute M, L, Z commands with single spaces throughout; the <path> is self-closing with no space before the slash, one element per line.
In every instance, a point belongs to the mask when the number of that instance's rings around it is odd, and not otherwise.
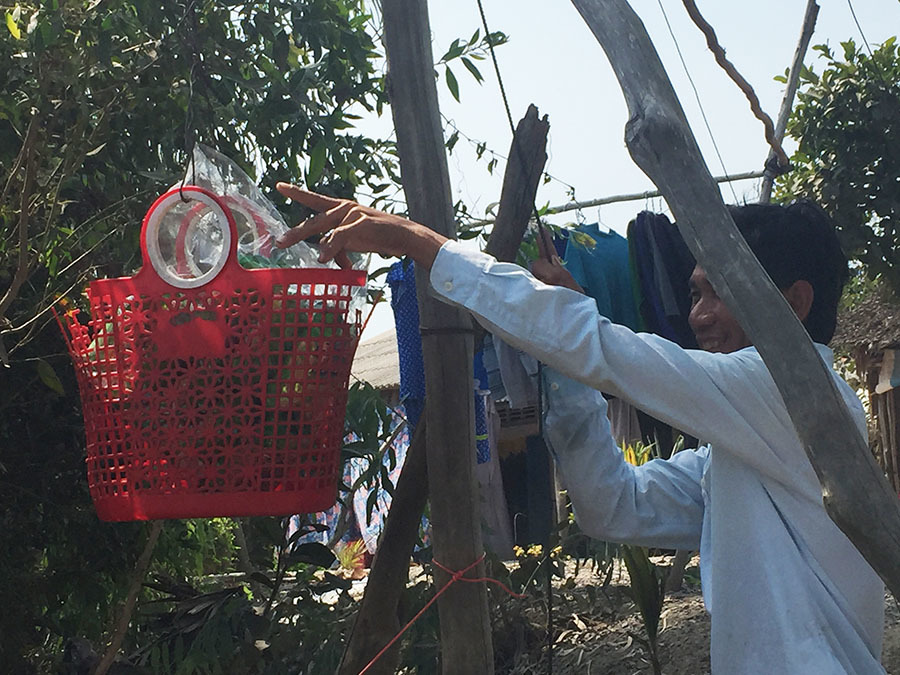
<path fill-rule="evenodd" d="M 456 242 L 438 253 L 431 284 L 552 369 L 545 429 L 583 531 L 700 549 L 713 673 L 884 672 L 884 587 L 826 514 L 754 348 L 713 354 L 635 334 L 590 298 Z M 831 351 L 817 348 L 830 366 Z M 834 377 L 865 433 L 859 399 Z M 709 445 L 632 467 L 600 391 Z"/>

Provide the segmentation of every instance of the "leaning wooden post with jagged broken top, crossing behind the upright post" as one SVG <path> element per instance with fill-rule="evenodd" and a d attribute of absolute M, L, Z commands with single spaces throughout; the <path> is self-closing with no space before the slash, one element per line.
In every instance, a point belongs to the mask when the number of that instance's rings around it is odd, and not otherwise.
<path fill-rule="evenodd" d="M 514 260 L 522 243 L 547 161 L 549 128 L 546 116 L 538 119 L 533 105 L 516 126 L 503 177 L 497 223 L 487 243 L 488 252 L 498 260 Z M 425 405 L 427 409 L 427 401 Z M 357 675 L 400 630 L 400 596 L 406 588 L 409 557 L 428 498 L 424 417 L 416 427 L 394 490 L 366 592 L 341 661 L 340 675 Z M 399 645 L 382 656 L 367 673 L 394 673 L 398 659 Z"/>

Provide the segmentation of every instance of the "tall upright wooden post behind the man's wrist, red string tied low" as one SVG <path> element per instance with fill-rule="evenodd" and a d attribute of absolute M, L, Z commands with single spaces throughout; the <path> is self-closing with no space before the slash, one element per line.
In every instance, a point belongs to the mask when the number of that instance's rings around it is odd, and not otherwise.
<path fill-rule="evenodd" d="M 397 132 L 409 216 L 454 237 L 453 202 L 434 81 L 425 0 L 384 0 L 388 94 Z M 428 270 L 416 270 L 425 360 L 426 455 L 434 557 L 462 570 L 482 555 L 475 482 L 473 330 L 466 312 L 428 293 Z M 470 577 L 484 576 L 479 563 Z M 435 570 L 440 588 L 450 576 Z M 445 673 L 492 673 L 494 653 L 484 584 L 457 582 L 438 598 Z"/>

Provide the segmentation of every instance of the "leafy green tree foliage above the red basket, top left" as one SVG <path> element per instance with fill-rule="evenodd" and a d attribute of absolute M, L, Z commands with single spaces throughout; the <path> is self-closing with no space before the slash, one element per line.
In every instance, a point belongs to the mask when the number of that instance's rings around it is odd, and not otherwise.
<path fill-rule="evenodd" d="M 384 101 L 360 0 L 48 0 L 6 17 L 0 287 L 13 292 L 0 336 L 10 351 L 42 323 L 34 310 L 90 268 L 135 266 L 143 211 L 195 139 L 266 185 L 302 176 L 351 196 L 392 170 L 377 141 L 348 132 L 354 106 Z"/>

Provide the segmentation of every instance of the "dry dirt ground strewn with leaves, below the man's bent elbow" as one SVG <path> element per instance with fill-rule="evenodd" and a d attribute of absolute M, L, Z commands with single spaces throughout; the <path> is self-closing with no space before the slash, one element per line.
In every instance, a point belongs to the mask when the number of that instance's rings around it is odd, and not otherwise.
<path fill-rule="evenodd" d="M 554 592 L 553 673 L 578 675 L 637 675 L 653 673 L 640 615 L 628 596 L 624 570 L 614 570 L 609 583 L 582 570 L 575 583 Z M 535 608 L 533 623 L 546 626 L 545 606 Z M 500 637 L 495 635 L 495 640 Z M 495 648 L 499 645 L 495 644 Z M 546 651 L 520 653 L 508 671 L 514 675 L 548 672 Z M 660 621 L 659 658 L 664 675 L 709 673 L 709 617 L 697 581 L 696 560 L 688 566 L 683 590 L 666 597 Z M 900 675 L 900 611 L 886 598 L 883 663 Z"/>

